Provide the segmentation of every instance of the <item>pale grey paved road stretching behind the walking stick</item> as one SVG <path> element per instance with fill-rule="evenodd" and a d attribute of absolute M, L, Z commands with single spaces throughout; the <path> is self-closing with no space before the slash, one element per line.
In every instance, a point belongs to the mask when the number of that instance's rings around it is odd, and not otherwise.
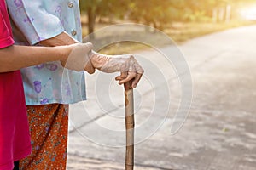
<path fill-rule="evenodd" d="M 140 143 L 135 146 L 136 169 L 256 169 L 255 32 L 256 26 L 246 26 L 198 37 L 179 47 L 192 75 L 193 101 L 186 122 L 174 135 L 171 127 L 182 94 L 181 86 L 177 78 L 167 80 L 171 109 L 164 116 L 160 112 L 161 108 L 165 110 L 168 96 L 164 94 L 168 93 L 160 91 L 161 82 L 149 86 L 149 74 L 154 72 L 148 71 L 135 91 L 137 127 L 149 124 L 143 128 L 143 133 L 148 135 L 138 138 Z M 140 53 L 154 56 L 154 51 Z M 162 64 L 162 70 L 167 72 L 169 66 L 164 61 L 158 62 L 157 67 Z M 166 74 L 172 75 L 173 71 Z M 108 131 L 124 130 L 124 119 L 120 118 L 124 114 L 120 107 L 124 100 L 123 89 L 109 82 L 113 75 L 86 78 L 88 101 L 71 105 L 70 119 L 74 126 L 69 130 L 67 169 L 124 169 L 125 148 L 107 146 L 122 145 L 124 135 L 106 135 L 101 131 L 101 127 Z M 108 87 L 101 88 L 106 83 Z M 113 105 L 109 101 L 104 103 L 108 97 L 102 96 L 108 93 Z M 159 114 L 152 114 L 153 104 Z M 84 110 L 90 118 L 84 116 Z M 157 126 L 145 121 L 150 116 L 160 125 L 152 135 L 149 135 L 151 130 Z M 163 120 L 165 122 L 160 124 Z"/>

